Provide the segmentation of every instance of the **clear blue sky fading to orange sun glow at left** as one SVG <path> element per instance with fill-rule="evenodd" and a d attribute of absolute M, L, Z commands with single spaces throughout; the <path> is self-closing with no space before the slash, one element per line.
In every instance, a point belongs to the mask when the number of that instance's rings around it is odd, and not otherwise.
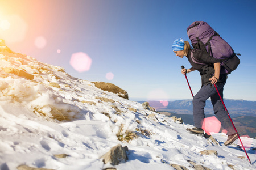
<path fill-rule="evenodd" d="M 255 7 L 254 0 L 0 0 L 0 22 L 23 23 L 7 30 L 10 35 L 0 28 L 0 38 L 14 52 L 62 66 L 77 78 L 113 83 L 130 99 L 192 99 L 180 67 L 191 65 L 176 57 L 171 46 L 179 37 L 189 41 L 187 27 L 204 20 L 241 53 L 224 97 L 256 101 Z M 19 22 L 11 23 L 11 16 Z M 41 48 L 35 45 L 38 37 L 46 41 Z M 92 59 L 89 71 L 79 73 L 69 65 L 78 52 Z M 110 72 L 113 79 L 106 78 Z M 201 87 L 199 72 L 187 77 L 195 95 Z"/>

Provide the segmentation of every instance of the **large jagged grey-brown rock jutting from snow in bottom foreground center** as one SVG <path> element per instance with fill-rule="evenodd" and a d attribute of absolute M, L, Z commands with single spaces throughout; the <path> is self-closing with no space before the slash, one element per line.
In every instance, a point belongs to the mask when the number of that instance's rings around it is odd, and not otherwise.
<path fill-rule="evenodd" d="M 121 144 L 111 148 L 105 155 L 101 156 L 104 164 L 110 163 L 112 165 L 118 165 L 120 162 L 127 160 L 125 148 Z"/>

